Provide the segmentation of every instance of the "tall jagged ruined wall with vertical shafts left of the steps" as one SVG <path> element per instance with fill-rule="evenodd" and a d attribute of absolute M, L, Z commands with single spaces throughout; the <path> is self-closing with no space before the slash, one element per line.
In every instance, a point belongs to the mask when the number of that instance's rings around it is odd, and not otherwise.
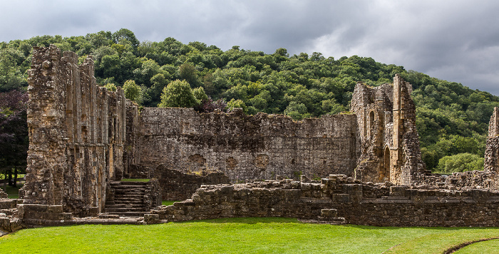
<path fill-rule="evenodd" d="M 123 174 L 128 102 L 123 91 L 98 87 L 93 72 L 91 58 L 78 65 L 76 53 L 34 48 L 24 203 L 96 213 L 108 181 Z"/>

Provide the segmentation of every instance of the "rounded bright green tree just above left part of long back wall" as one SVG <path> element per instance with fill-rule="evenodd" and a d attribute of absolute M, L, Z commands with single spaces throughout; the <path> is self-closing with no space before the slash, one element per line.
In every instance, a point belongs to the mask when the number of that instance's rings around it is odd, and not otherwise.
<path fill-rule="evenodd" d="M 163 89 L 158 107 L 194 107 L 197 100 L 192 94 L 189 83 L 175 80 Z"/>

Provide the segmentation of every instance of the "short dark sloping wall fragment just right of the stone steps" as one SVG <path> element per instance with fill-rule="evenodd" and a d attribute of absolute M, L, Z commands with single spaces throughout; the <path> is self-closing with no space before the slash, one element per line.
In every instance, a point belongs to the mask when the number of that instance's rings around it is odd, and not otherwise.
<path fill-rule="evenodd" d="M 168 166 L 160 165 L 155 170 L 164 200 L 189 199 L 203 184 L 229 184 L 230 180 L 220 172 L 187 174 Z M 160 203 L 161 204 L 161 203 Z"/>

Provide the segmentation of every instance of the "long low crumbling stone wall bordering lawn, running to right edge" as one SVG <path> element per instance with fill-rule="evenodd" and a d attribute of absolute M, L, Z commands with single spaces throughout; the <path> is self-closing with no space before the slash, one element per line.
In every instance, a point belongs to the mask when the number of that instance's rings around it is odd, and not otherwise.
<path fill-rule="evenodd" d="M 245 216 L 320 220 L 322 210 L 336 209 L 335 216 L 357 225 L 499 226 L 498 208 L 499 191 L 363 184 L 332 175 L 320 184 L 288 179 L 202 186 L 192 199 L 152 213 L 169 221 Z"/>

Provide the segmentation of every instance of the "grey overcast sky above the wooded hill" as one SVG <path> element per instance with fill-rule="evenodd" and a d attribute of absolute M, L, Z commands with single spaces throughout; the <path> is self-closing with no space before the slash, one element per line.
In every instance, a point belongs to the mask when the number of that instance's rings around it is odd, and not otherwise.
<path fill-rule="evenodd" d="M 0 41 L 128 28 L 290 55 L 359 55 L 499 95 L 499 1 L 0 0 Z"/>

